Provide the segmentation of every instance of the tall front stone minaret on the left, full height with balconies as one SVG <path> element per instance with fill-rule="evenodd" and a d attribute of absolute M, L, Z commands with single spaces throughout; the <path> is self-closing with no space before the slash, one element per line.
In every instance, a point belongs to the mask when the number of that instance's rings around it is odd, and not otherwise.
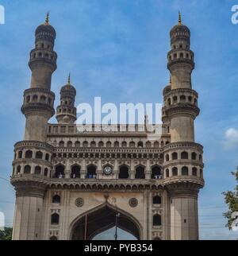
<path fill-rule="evenodd" d="M 13 240 L 39 240 L 44 208 L 44 193 L 52 170 L 52 145 L 48 145 L 48 119 L 53 116 L 55 95 L 51 91 L 56 70 L 54 52 L 56 30 L 49 17 L 36 29 L 35 48 L 30 52 L 30 88 L 24 92 L 21 111 L 25 114 L 25 138 L 14 145 L 13 176 L 16 190 Z"/>

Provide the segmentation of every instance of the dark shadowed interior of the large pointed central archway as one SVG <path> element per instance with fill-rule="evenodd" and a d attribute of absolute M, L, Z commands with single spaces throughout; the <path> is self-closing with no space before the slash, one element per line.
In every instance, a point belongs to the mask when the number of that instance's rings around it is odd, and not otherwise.
<path fill-rule="evenodd" d="M 96 235 L 115 227 L 117 213 L 120 213 L 120 217 L 117 219 L 117 227 L 140 240 L 141 228 L 136 219 L 129 213 L 109 204 L 103 204 L 101 207 L 94 208 L 79 216 L 79 219 L 75 219 L 72 224 L 70 239 L 94 239 Z"/>

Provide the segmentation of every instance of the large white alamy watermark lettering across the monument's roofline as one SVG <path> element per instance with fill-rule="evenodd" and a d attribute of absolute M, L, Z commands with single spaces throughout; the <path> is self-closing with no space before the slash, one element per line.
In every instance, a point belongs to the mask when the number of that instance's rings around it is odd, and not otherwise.
<path fill-rule="evenodd" d="M 158 139 L 162 133 L 161 103 L 102 104 L 101 97 L 94 98 L 94 106 L 80 103 L 76 121 L 79 133 L 98 132 L 146 132 L 149 140 Z M 94 124 L 94 125 L 93 125 Z"/>

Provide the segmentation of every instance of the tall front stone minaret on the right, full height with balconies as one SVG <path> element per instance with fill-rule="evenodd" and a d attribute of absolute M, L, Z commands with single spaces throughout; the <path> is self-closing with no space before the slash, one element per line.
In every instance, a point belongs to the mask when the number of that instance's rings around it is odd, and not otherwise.
<path fill-rule="evenodd" d="M 194 142 L 194 119 L 199 114 L 198 93 L 192 89 L 194 52 L 190 29 L 171 29 L 171 51 L 167 68 L 171 84 L 163 90 L 163 122 L 170 126 L 171 143 L 164 146 L 165 184 L 170 201 L 172 240 L 198 239 L 198 192 L 203 187 L 202 145 Z"/>

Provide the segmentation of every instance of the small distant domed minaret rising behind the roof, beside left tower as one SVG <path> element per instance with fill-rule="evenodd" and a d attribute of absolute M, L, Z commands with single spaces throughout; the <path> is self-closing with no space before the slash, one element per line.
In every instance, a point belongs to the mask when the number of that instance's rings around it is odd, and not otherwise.
<path fill-rule="evenodd" d="M 56 119 L 59 123 L 74 123 L 76 121 L 75 87 L 71 85 L 71 76 L 67 84 L 60 90 L 60 105 L 57 107 Z"/>

